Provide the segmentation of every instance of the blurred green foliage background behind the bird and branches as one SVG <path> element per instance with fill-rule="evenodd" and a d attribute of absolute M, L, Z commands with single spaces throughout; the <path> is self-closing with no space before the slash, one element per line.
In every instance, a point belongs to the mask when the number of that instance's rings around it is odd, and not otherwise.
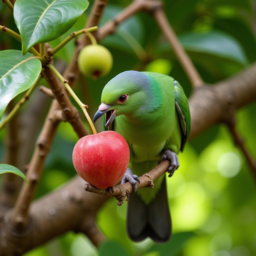
<path fill-rule="evenodd" d="M 110 0 L 101 25 L 130 3 L 128 0 Z M 165 10 L 205 82 L 213 84 L 228 78 L 255 61 L 255 1 L 166 0 Z M 70 31 L 52 41 L 51 45 L 56 46 L 68 34 L 81 29 L 89 12 L 90 8 Z M 4 4 L 0 4 L 0 13 L 0 24 L 17 31 L 12 14 Z M 132 16 L 117 28 L 114 35 L 107 36 L 101 43 L 113 55 L 112 71 L 98 80 L 81 77 L 75 88 L 81 100 L 89 105 L 91 117 L 100 104 L 101 91 L 106 82 L 125 70 L 168 74 L 180 82 L 189 97 L 191 84 L 152 16 L 146 13 Z M 0 49 L 11 48 L 21 49 L 21 45 L 1 33 Z M 71 42 L 56 57 L 59 61 L 68 63 L 73 51 L 74 44 Z M 22 95 L 16 100 L 20 97 Z M 26 104 L 22 112 L 29 108 L 29 104 L 30 102 Z M 256 104 L 252 103 L 240 109 L 236 115 L 239 132 L 245 138 L 246 147 L 254 158 L 255 112 Z M 98 131 L 103 130 L 103 121 L 96 125 Z M 0 159 L 3 161 L 5 134 L 5 130 L 0 132 Z M 47 158 L 37 198 L 58 189 L 76 175 L 72 164 L 72 150 L 77 139 L 69 123 L 60 125 Z M 173 222 L 173 237 L 170 242 L 161 245 L 150 239 L 132 242 L 125 226 L 127 202 L 119 207 L 116 205 L 117 201 L 111 198 L 98 213 L 98 225 L 109 239 L 99 249 L 83 234 L 68 232 L 24 255 L 256 255 L 255 181 L 246 159 L 234 146 L 227 127 L 211 127 L 190 141 L 179 159 L 180 168 L 172 178 L 167 178 Z M 75 214 L 74 212 L 74 216 Z"/>

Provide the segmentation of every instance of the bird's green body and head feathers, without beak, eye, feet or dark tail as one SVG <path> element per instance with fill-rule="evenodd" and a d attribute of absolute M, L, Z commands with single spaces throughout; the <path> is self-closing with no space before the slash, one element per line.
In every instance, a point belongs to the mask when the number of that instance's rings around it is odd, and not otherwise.
<path fill-rule="evenodd" d="M 118 103 L 122 94 L 129 98 Z M 172 77 L 125 71 L 106 84 L 101 101 L 111 106 L 109 110 L 116 109 L 112 129 L 129 145 L 133 174 L 141 176 L 153 169 L 164 150 L 177 154 L 183 150 L 190 131 L 189 105 L 183 88 Z M 136 192 L 145 205 L 153 204 L 164 177 L 154 181 L 153 189 Z"/>

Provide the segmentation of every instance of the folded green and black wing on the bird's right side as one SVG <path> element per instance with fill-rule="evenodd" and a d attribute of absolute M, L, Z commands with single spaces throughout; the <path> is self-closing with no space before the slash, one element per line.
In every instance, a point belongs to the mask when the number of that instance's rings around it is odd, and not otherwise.
<path fill-rule="evenodd" d="M 175 89 L 175 108 L 179 116 L 179 122 L 182 131 L 181 138 L 181 147 L 180 151 L 183 151 L 183 148 L 188 140 L 188 135 L 190 132 L 190 111 L 188 105 L 188 99 L 184 93 L 183 88 L 180 86 L 179 82 L 174 80 L 174 89 Z"/>

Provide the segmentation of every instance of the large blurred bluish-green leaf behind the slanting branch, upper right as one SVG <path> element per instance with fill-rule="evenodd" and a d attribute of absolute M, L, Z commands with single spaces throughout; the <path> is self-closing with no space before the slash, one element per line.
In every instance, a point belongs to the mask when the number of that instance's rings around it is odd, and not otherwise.
<path fill-rule="evenodd" d="M 227 33 L 218 30 L 204 33 L 189 32 L 179 36 L 179 40 L 192 61 L 218 79 L 230 76 L 248 64 L 239 42 Z M 167 42 L 156 47 L 155 53 L 175 59 Z"/>

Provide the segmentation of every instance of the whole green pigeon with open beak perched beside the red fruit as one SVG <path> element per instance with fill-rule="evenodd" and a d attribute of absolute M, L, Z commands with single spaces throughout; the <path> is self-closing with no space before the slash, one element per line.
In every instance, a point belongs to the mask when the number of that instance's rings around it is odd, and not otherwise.
<path fill-rule="evenodd" d="M 179 167 L 178 152 L 183 151 L 190 131 L 187 97 L 172 77 L 125 71 L 104 87 L 101 105 L 93 122 L 104 113 L 105 126 L 120 133 L 130 148 L 130 162 L 122 184 L 130 182 L 127 231 L 134 241 L 150 237 L 166 242 L 172 231 L 165 175 L 154 181 L 154 188 L 137 191 L 139 176 L 159 162 L 169 159 L 169 177 Z"/>

